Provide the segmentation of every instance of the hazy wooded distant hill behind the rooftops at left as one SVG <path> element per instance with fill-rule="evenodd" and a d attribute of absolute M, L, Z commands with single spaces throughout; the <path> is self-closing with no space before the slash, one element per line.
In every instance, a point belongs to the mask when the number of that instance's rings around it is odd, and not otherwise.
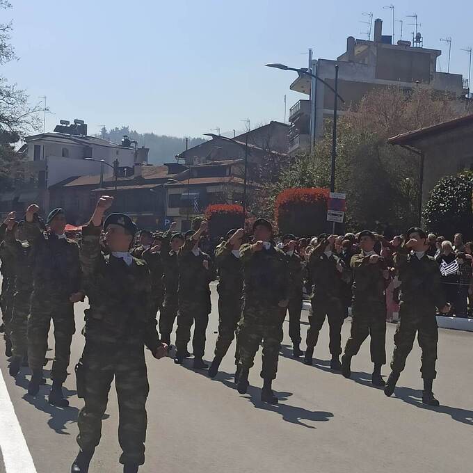
<path fill-rule="evenodd" d="M 138 147 L 145 146 L 150 148 L 148 154 L 148 163 L 162 164 L 175 161 L 175 155 L 186 149 L 186 138 L 177 138 L 176 136 L 156 135 L 154 133 L 138 133 L 129 127 L 115 127 L 107 130 L 102 129 L 97 136 L 105 136 L 113 143 L 120 143 L 123 135 L 128 135 L 130 140 L 138 141 Z M 202 138 L 189 138 L 189 147 L 200 145 L 205 140 Z"/>

